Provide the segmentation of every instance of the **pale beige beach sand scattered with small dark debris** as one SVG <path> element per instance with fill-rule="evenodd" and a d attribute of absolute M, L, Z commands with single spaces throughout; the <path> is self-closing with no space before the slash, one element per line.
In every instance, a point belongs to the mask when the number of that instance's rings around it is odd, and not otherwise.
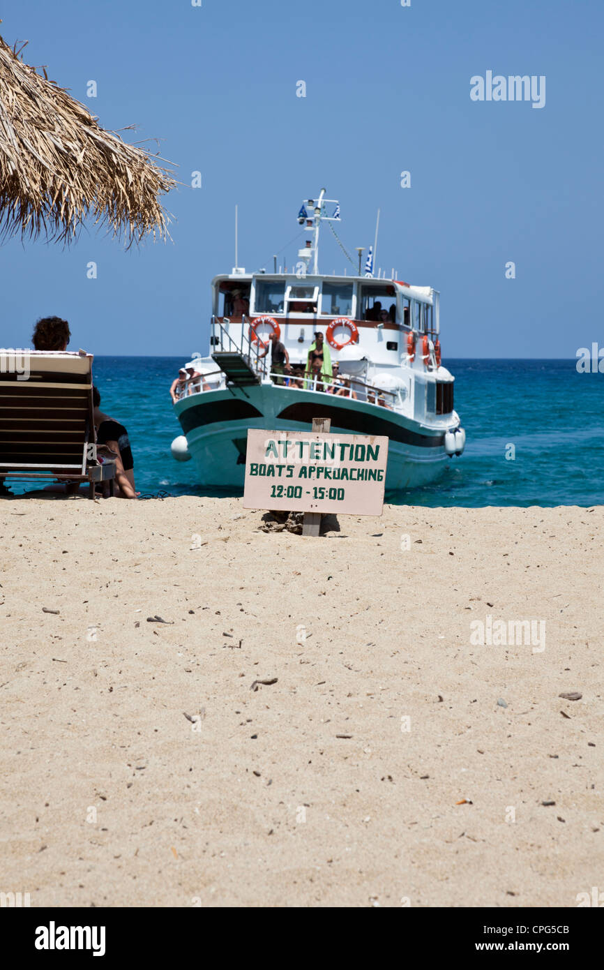
<path fill-rule="evenodd" d="M 386 506 L 321 538 L 262 518 L 0 503 L 0 889 L 573 907 L 602 887 L 604 509 Z M 545 642 L 476 645 L 488 615 Z"/>

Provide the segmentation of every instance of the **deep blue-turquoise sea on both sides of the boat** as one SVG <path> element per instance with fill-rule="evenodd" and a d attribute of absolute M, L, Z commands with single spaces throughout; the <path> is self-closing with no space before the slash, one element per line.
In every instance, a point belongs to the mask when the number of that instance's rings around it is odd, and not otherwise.
<path fill-rule="evenodd" d="M 176 357 L 94 361 L 101 407 L 128 428 L 137 489 L 143 493 L 208 494 L 196 483 L 194 463 L 175 462 L 170 452 L 181 432 L 169 389 L 183 362 Z M 473 508 L 604 502 L 604 374 L 578 373 L 574 360 L 444 363 L 456 376 L 465 451 L 449 462 L 438 482 L 387 493 L 387 501 Z"/>

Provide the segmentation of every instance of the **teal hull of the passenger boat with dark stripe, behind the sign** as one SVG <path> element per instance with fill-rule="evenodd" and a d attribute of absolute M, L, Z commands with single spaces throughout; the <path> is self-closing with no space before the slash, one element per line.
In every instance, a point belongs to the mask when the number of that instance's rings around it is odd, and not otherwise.
<path fill-rule="evenodd" d="M 191 395 L 175 413 L 199 484 L 212 488 L 243 488 L 248 429 L 307 431 L 313 417 L 331 418 L 335 435 L 388 436 L 386 488 L 417 488 L 446 468 L 445 433 L 459 424 L 452 415 L 447 428 L 429 428 L 375 404 L 268 383 Z"/>

